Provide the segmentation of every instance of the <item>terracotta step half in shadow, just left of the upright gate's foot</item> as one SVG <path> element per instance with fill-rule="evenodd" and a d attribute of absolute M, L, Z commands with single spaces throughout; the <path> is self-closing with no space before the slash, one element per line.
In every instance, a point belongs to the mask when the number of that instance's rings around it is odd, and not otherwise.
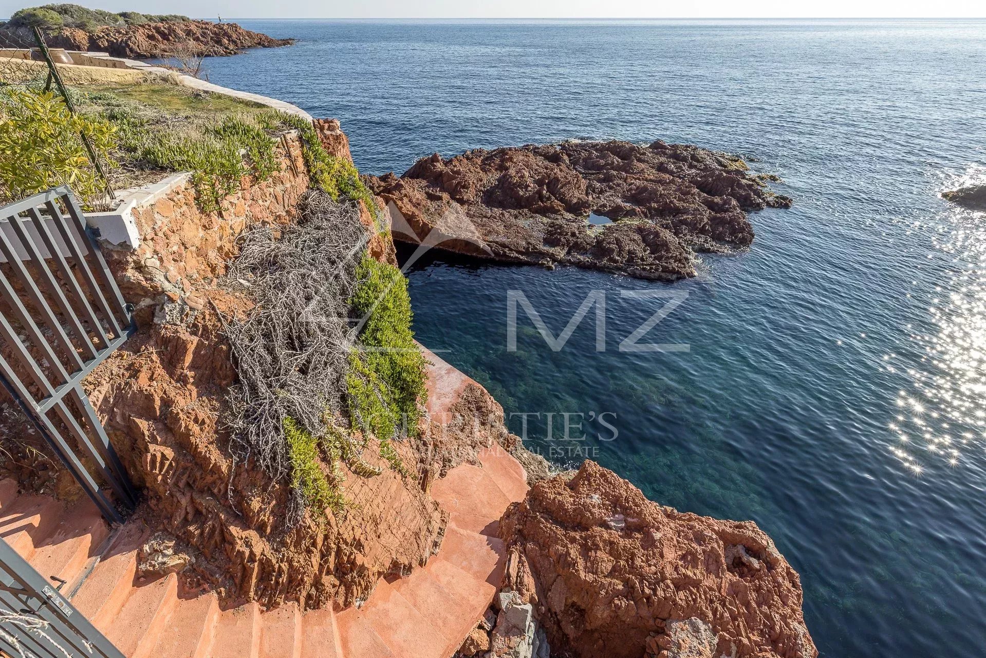
<path fill-rule="evenodd" d="M 35 548 L 31 565 L 51 582 L 58 582 L 52 578 L 56 576 L 71 585 L 108 536 L 99 508 L 83 500 L 66 510 L 51 535 Z"/>

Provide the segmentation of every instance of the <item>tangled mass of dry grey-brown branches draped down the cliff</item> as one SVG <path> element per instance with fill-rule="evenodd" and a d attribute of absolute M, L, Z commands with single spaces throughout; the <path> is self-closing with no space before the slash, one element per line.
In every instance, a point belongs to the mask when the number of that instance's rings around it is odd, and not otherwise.
<path fill-rule="evenodd" d="M 297 225 L 246 233 L 229 272 L 256 303 L 225 329 L 240 377 L 229 398 L 233 450 L 275 481 L 291 469 L 284 419 L 320 437 L 342 413 L 349 298 L 368 239 L 351 201 L 311 190 L 299 211 Z"/>

